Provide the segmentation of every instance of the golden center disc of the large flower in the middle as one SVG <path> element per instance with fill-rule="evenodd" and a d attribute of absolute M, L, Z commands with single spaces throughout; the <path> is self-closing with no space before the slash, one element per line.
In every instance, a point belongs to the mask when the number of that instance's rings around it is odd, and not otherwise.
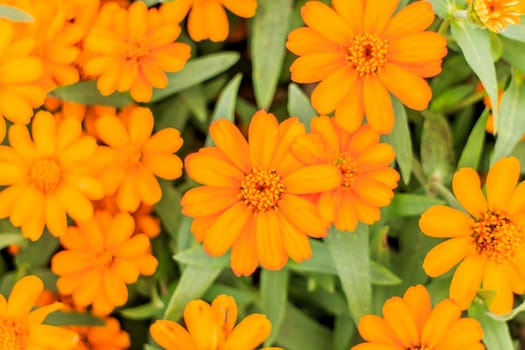
<path fill-rule="evenodd" d="M 277 171 L 252 169 L 241 181 L 239 199 L 256 214 L 275 209 L 283 192 L 284 185 Z"/>

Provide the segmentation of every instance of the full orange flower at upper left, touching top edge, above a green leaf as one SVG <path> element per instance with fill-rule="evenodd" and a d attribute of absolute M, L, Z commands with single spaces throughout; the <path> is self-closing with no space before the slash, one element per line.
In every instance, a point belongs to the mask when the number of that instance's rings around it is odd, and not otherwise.
<path fill-rule="evenodd" d="M 168 84 L 164 72 L 181 70 L 190 58 L 190 46 L 174 42 L 179 34 L 177 23 L 166 23 L 142 1 L 128 9 L 108 3 L 85 39 L 90 58 L 84 73 L 97 77 L 102 95 L 129 90 L 136 101 L 147 102 L 153 87 Z"/>

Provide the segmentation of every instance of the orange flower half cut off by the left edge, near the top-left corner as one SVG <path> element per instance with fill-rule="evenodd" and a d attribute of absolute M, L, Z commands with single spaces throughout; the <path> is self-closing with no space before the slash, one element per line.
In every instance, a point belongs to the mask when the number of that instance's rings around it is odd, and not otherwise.
<path fill-rule="evenodd" d="M 0 142 L 6 133 L 4 117 L 27 124 L 33 108 L 44 102 L 46 93 L 37 83 L 42 62 L 32 56 L 34 47 L 29 37 L 15 39 L 13 24 L 0 19 Z"/>

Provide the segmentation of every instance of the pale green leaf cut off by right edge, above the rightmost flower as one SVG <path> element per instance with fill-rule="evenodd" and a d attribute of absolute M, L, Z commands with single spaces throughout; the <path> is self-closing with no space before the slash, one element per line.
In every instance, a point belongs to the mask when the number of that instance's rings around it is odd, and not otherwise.
<path fill-rule="evenodd" d="M 525 83 L 513 79 L 501 98 L 501 118 L 499 120 L 496 145 L 491 163 L 509 155 L 523 133 L 525 133 Z"/>

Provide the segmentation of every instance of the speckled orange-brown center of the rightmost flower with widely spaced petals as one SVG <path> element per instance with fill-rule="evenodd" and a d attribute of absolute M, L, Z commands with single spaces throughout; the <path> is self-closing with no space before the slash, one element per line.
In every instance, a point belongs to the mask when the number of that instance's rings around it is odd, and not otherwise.
<path fill-rule="evenodd" d="M 472 226 L 472 237 L 478 254 L 503 263 L 514 256 L 524 234 L 506 213 L 488 211 Z"/>

